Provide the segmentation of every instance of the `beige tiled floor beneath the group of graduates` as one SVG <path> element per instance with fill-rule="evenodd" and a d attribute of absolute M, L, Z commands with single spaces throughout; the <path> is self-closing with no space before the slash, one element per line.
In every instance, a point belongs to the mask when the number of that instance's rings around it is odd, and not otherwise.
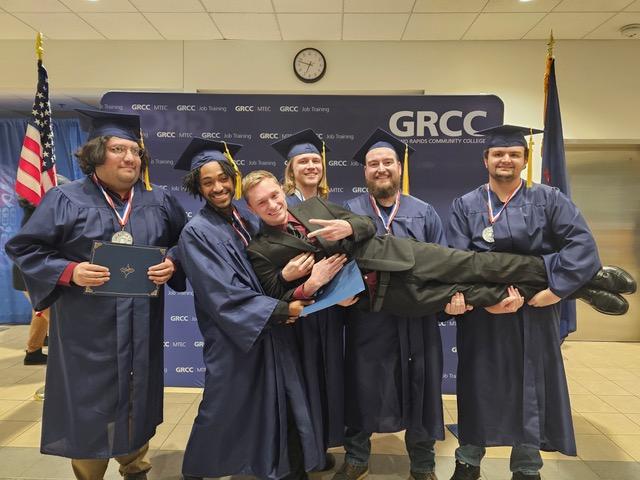
<path fill-rule="evenodd" d="M 41 455 L 42 403 L 33 394 L 44 381 L 43 367 L 22 365 L 27 327 L 0 326 L 0 479 L 71 479 L 67 459 Z M 640 344 L 567 342 L 569 378 L 578 457 L 543 453 L 546 480 L 640 480 Z M 179 479 L 182 452 L 196 414 L 200 391 L 167 388 L 165 423 L 151 440 L 151 479 Z M 445 421 L 455 422 L 456 401 L 445 396 Z M 438 442 L 436 473 L 453 471 L 455 438 Z M 338 461 L 342 451 L 336 449 Z M 409 463 L 402 433 L 376 435 L 369 478 L 406 479 Z M 485 480 L 508 480 L 509 449 L 491 448 L 482 464 Z M 313 474 L 328 480 L 333 472 Z M 114 462 L 106 477 L 120 478 Z M 234 477 L 239 479 L 240 477 Z"/>

